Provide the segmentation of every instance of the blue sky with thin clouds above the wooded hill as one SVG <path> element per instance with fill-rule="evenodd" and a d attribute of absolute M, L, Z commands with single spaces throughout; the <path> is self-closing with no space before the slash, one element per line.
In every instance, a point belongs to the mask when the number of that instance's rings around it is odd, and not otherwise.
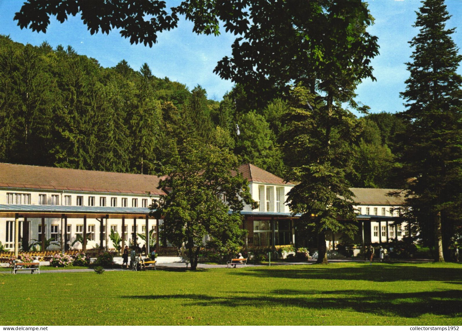
<path fill-rule="evenodd" d="M 189 89 L 200 84 L 207 90 L 208 97 L 221 100 L 232 83 L 220 79 L 213 73 L 217 61 L 231 55 L 231 43 L 235 36 L 222 31 L 219 37 L 198 36 L 192 32 L 192 24 L 181 20 L 178 28 L 158 35 L 158 43 L 152 48 L 131 45 L 128 39 L 113 30 L 109 36 L 101 33 L 91 36 L 78 17 L 70 17 L 60 24 L 50 18 L 46 34 L 21 30 L 13 21 L 24 0 L 0 0 L 0 34 L 10 35 L 13 41 L 40 45 L 43 41 L 55 48 L 58 45 L 72 46 L 77 53 L 95 58 L 102 66 L 115 66 L 125 59 L 135 70 L 146 62 L 157 77 L 186 84 Z M 167 6 L 170 5 L 167 1 Z M 403 100 L 399 92 L 404 91 L 408 77 L 405 62 L 409 61 L 412 49 L 407 43 L 417 34 L 412 27 L 418 0 L 369 0 L 369 9 L 375 24 L 368 30 L 378 36 L 380 55 L 372 60 L 376 82 L 366 80 L 357 89 L 357 101 L 371 107 L 371 112 L 402 111 Z M 462 46 L 462 0 L 447 0 L 452 15 L 447 27 L 457 27 L 453 39 Z M 457 26 L 459 25 L 459 27 Z M 462 70 L 459 69 L 462 74 Z"/>

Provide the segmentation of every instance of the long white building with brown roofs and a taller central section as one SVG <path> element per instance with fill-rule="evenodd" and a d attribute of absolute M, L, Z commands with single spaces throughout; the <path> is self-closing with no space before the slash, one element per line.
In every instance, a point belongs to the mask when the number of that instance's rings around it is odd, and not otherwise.
<path fill-rule="evenodd" d="M 259 202 L 258 209 L 251 210 L 247 205 L 242 211 L 243 227 L 248 231 L 246 244 L 299 242 L 298 217 L 285 204 L 294 184 L 252 164 L 242 165 L 239 171 L 249 181 L 252 198 Z M 0 241 L 8 249 L 14 249 L 15 242 L 20 249 L 21 245 L 35 241 L 42 246 L 46 240 L 51 241 L 50 250 L 67 245 L 75 249 L 114 248 L 109 240 L 111 229 L 121 235 L 122 247 L 128 240 L 139 237 L 134 234 L 149 237 L 147 232 L 153 230 L 159 246 L 162 243 L 158 226 L 162 220 L 149 215 L 152 200 L 166 194 L 157 189 L 159 179 L 154 175 L 0 163 Z M 388 193 L 393 190 L 386 189 L 353 188 L 352 191 L 363 243 L 401 239 L 406 235 L 398 212 L 403 205 L 402 196 L 390 197 Z M 84 242 L 72 245 L 78 235 Z M 334 248 L 340 234 L 331 235 L 330 245 Z M 137 243 L 146 244 L 139 239 Z"/>

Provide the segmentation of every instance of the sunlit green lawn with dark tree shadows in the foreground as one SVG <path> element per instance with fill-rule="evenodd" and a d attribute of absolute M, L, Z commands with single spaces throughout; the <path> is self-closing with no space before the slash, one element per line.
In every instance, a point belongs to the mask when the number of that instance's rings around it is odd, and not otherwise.
<path fill-rule="evenodd" d="M 0 276 L 3 325 L 461 325 L 462 265 Z"/>

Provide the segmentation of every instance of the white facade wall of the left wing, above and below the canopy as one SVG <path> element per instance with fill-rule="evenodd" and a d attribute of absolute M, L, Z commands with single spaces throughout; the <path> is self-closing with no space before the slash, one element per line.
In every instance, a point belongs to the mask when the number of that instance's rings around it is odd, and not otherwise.
<path fill-rule="evenodd" d="M 78 191 L 57 191 L 43 189 L 21 189 L 21 188 L 5 188 L 0 190 L 0 205 L 71 205 L 71 206 L 108 206 L 108 207 L 149 207 L 153 199 L 158 199 L 158 196 L 150 196 L 148 194 L 127 194 L 127 193 L 109 193 L 109 192 L 78 192 Z M 19 236 L 22 237 L 22 227 L 24 218 L 19 220 Z M 41 218 L 28 218 L 29 223 L 29 243 L 38 241 L 42 232 Z M 83 218 L 68 218 L 67 219 L 67 238 L 68 243 L 72 244 L 76 240 L 77 234 L 83 235 Z M 87 248 L 95 248 L 100 245 L 101 222 L 96 218 L 87 218 Z M 108 236 L 111 228 L 119 233 L 122 237 L 122 218 L 109 218 L 108 220 Z M 103 245 L 105 245 L 105 227 L 106 220 L 103 221 Z M 145 234 L 146 219 L 139 218 L 136 221 L 136 229 L 133 228 L 134 220 L 125 219 L 125 225 L 128 234 L 126 241 L 132 239 L 132 232 Z M 148 230 L 155 229 L 156 220 L 148 220 Z M 40 232 L 39 232 L 40 230 Z M 56 241 L 52 241 L 49 250 L 60 248 L 61 235 L 61 218 L 45 218 L 45 238 L 51 236 L 56 237 Z M 138 237 L 139 238 L 139 237 Z M 14 247 L 14 217 L 0 217 L 0 241 L 6 248 Z M 144 245 L 145 241 L 140 238 L 137 241 L 140 245 Z M 21 245 L 21 244 L 20 244 Z M 70 245 L 70 248 L 81 249 L 81 244 L 76 242 Z M 112 241 L 108 241 L 109 248 L 115 248 Z"/>

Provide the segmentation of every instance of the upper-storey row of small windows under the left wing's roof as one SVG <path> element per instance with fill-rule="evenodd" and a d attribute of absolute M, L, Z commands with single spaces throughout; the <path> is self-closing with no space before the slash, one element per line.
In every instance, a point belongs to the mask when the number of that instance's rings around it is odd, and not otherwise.
<path fill-rule="evenodd" d="M 30 193 L 6 193 L 7 203 L 10 205 L 30 205 Z M 118 198 L 112 197 L 111 207 L 118 207 Z M 38 204 L 39 205 L 59 205 L 59 194 L 51 194 L 49 197 L 47 194 L 38 195 Z M 63 197 L 63 205 L 72 206 L 72 196 L 65 195 Z M 121 207 L 128 207 L 128 198 L 121 198 Z M 84 196 L 78 195 L 76 197 L 77 206 L 84 205 Z M 95 197 L 88 197 L 88 206 L 95 205 Z M 99 206 L 105 207 L 107 205 L 106 197 L 99 198 Z M 138 198 L 132 198 L 132 207 L 138 207 Z M 148 207 L 147 199 L 141 199 L 141 207 Z"/>

